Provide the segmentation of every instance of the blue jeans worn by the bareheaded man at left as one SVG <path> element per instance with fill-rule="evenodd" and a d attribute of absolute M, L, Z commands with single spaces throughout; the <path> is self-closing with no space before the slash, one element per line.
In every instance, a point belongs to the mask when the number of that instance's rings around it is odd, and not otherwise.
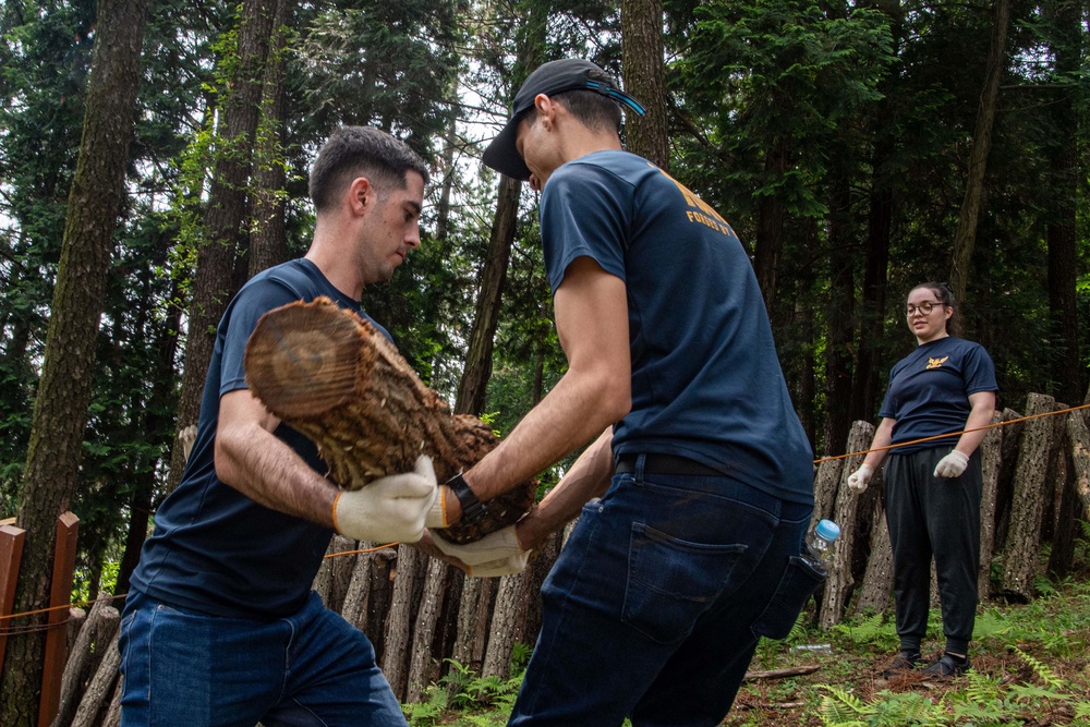
<path fill-rule="evenodd" d="M 405 727 L 371 641 L 316 593 L 274 621 L 221 618 L 133 591 L 121 621 L 122 727 Z"/>

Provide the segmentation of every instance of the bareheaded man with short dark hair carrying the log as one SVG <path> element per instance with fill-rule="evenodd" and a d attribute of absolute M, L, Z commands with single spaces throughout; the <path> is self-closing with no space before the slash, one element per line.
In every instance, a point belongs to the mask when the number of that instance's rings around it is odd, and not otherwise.
<path fill-rule="evenodd" d="M 407 724 L 371 642 L 311 584 L 335 530 L 412 543 L 441 525 L 432 463 L 341 490 L 317 447 L 247 388 L 243 355 L 262 315 L 288 303 L 325 296 L 365 317 L 364 286 L 420 245 L 427 179 L 388 134 L 337 130 L 311 171 L 306 255 L 255 276 L 228 306 L 185 472 L 132 577 L 122 725 Z"/>

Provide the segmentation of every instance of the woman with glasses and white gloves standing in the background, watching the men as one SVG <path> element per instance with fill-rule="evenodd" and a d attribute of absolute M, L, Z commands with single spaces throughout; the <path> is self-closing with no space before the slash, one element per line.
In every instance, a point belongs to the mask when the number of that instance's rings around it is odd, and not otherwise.
<path fill-rule="evenodd" d="M 947 332 L 954 296 L 945 284 L 913 288 L 905 312 L 917 348 L 889 372 L 882 422 L 848 487 L 857 494 L 867 489 L 889 455 L 883 474 L 900 652 L 883 676 L 915 669 L 920 662 L 934 556 L 946 647 L 923 674 L 948 678 L 969 669 L 980 562 L 977 448 L 985 433 L 980 427 L 991 423 L 998 387 L 988 351 Z"/>

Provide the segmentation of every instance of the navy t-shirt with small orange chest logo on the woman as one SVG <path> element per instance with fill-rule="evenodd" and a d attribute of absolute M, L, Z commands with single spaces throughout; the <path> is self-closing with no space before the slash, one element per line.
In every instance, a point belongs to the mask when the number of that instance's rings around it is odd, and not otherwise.
<path fill-rule="evenodd" d="M 894 445 L 940 434 L 960 434 L 972 411 L 969 395 L 998 388 L 995 365 L 984 347 L 947 336 L 918 346 L 894 364 L 879 416 L 896 422 L 891 443 Z M 955 444 L 957 439 L 952 436 L 891 451 L 907 455 Z"/>

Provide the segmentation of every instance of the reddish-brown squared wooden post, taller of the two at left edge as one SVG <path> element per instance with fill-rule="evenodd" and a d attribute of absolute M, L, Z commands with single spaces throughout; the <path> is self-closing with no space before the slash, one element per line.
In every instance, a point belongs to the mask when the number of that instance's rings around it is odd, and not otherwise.
<path fill-rule="evenodd" d="M 57 544 L 53 548 L 53 575 L 49 587 L 49 617 L 46 620 L 45 663 L 41 671 L 41 699 L 38 702 L 38 727 L 49 727 L 60 706 L 61 681 L 68 656 L 68 606 L 72 601 L 72 577 L 75 569 L 75 541 L 80 518 L 71 510 L 57 518 Z"/>

